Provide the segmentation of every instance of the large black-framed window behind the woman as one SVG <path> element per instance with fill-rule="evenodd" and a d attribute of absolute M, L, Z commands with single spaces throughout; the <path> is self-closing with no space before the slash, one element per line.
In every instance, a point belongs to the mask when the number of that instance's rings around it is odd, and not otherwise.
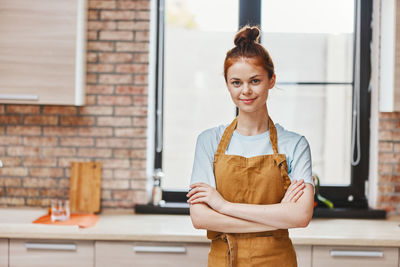
<path fill-rule="evenodd" d="M 165 0 L 165 10 L 155 153 L 164 188 L 186 190 L 197 135 L 232 120 L 222 65 L 239 25 L 250 23 L 276 67 L 271 117 L 307 137 L 321 194 L 336 207 L 367 207 L 371 0 Z"/>

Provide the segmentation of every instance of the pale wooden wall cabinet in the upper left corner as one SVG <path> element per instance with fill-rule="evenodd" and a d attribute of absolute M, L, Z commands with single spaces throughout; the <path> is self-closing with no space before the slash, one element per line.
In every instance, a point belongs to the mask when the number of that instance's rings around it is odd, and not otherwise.
<path fill-rule="evenodd" d="M 0 103 L 83 105 L 87 0 L 1 0 Z"/>

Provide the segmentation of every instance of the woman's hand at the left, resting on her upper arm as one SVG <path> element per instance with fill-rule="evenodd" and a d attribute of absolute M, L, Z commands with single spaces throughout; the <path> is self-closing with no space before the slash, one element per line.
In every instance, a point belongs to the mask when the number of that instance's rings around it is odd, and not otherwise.
<path fill-rule="evenodd" d="M 186 195 L 189 204 L 206 203 L 215 211 L 221 212 L 222 208 L 228 203 L 220 193 L 206 183 L 195 183 L 190 186 L 191 190 Z"/>

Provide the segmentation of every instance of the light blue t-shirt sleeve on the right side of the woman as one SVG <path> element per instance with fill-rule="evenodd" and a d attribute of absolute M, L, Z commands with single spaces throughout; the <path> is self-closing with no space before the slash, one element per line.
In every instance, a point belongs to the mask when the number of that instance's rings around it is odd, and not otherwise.
<path fill-rule="evenodd" d="M 292 181 L 303 179 L 305 183 L 314 186 L 312 177 L 311 151 L 307 139 L 302 136 L 293 151 L 289 168 L 289 177 Z"/>

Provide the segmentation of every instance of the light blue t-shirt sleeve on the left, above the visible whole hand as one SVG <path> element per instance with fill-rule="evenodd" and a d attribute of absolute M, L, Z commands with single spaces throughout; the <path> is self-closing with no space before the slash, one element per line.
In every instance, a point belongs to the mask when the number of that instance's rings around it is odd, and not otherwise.
<path fill-rule="evenodd" d="M 215 188 L 213 163 L 216 140 L 212 137 L 212 132 L 208 130 L 197 138 L 190 184 L 203 182 Z"/>

